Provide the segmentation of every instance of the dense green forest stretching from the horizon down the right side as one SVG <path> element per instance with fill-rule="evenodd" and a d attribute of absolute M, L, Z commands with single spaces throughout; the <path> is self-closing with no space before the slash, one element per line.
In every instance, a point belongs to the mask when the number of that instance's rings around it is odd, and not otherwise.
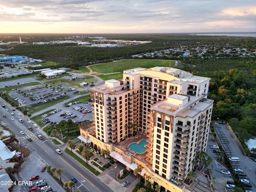
<path fill-rule="evenodd" d="M 17 35 L 16 35 L 17 36 Z M 256 38 L 228 36 L 193 36 L 189 34 L 92 34 L 80 37 L 80 40 L 91 41 L 89 36 L 104 36 L 108 39 L 152 41 L 152 43 L 121 47 L 86 47 L 77 44 L 45 44 L 32 45 L 30 41 L 64 40 L 62 36 L 45 36 L 25 38 L 28 44 L 16 44 L 12 49 L 1 51 L 6 55 L 25 55 L 31 58 L 54 61 L 59 66 L 86 66 L 94 63 L 107 63 L 112 60 L 132 58 L 134 54 L 153 52 L 164 49 L 191 50 L 196 47 L 208 47 L 209 50 L 201 57 L 179 57 L 177 52 L 167 56 L 155 56 L 154 59 L 179 60 L 177 66 L 194 75 L 211 78 L 209 98 L 214 99 L 212 118 L 227 120 L 240 141 L 256 136 L 256 58 L 230 54 L 218 58 L 218 50 L 222 48 L 245 48 L 248 52 L 256 51 Z M 13 37 L 14 38 L 14 37 Z M 15 37 L 17 39 L 17 37 Z M 74 38 L 73 38 L 74 39 Z M 8 46 L 0 46 L 7 48 Z M 9 48 L 9 47 L 8 47 Z M 218 59 L 217 59 L 218 58 Z M 143 58 L 142 58 L 143 59 Z M 153 59 L 153 58 L 152 58 Z M 106 64 L 107 65 L 107 64 Z M 56 66 L 55 66 L 56 67 Z"/>

